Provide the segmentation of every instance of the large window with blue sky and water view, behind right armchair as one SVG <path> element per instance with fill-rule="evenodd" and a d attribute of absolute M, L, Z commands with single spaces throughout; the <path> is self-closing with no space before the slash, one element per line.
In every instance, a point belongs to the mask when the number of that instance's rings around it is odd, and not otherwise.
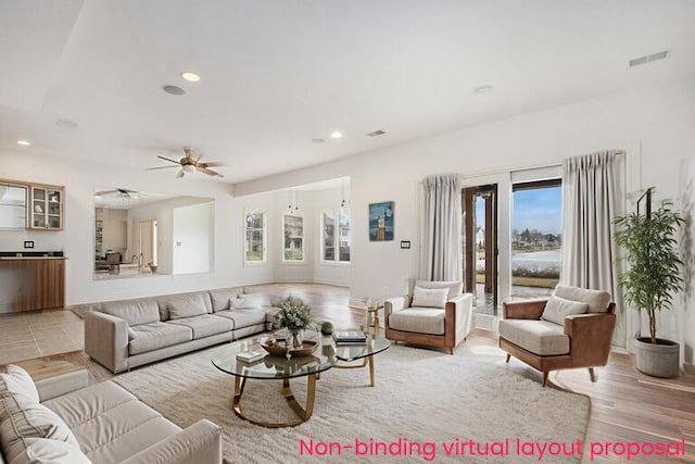
<path fill-rule="evenodd" d="M 549 294 L 560 277 L 561 180 L 516 183 L 511 191 L 511 294 Z"/>

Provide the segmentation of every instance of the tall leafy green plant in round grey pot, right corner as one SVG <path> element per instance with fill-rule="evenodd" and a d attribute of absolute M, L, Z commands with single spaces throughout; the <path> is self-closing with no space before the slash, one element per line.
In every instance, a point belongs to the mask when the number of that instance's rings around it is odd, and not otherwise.
<path fill-rule="evenodd" d="M 620 285 L 628 303 L 637 311 L 644 310 L 649 321 L 649 337 L 637 337 L 635 341 L 636 368 L 656 377 L 678 377 L 680 347 L 675 341 L 657 338 L 656 312 L 670 309 L 673 296 L 683 289 L 674 236 L 684 220 L 668 200 L 650 211 L 650 196 L 652 189 L 643 196 L 645 215 L 637 208 L 634 213 L 614 218 L 619 227 L 616 242 L 624 248 L 629 264 Z"/>

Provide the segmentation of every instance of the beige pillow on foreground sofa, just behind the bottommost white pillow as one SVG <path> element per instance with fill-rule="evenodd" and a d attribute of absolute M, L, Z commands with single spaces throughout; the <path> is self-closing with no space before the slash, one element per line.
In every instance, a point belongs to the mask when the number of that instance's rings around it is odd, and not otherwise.
<path fill-rule="evenodd" d="M 65 422 L 42 404 L 33 404 L 10 414 L 0 424 L 0 446 L 8 462 L 27 447 L 27 438 L 49 438 L 79 449 L 77 439 Z"/>

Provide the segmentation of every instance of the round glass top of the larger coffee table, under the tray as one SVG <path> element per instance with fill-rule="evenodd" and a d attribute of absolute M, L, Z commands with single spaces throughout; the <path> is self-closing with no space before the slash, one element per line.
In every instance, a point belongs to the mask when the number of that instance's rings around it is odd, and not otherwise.
<path fill-rule="evenodd" d="M 274 356 L 261 347 L 261 340 L 238 341 L 215 351 L 212 363 L 219 371 L 238 377 L 258 379 L 283 379 L 302 377 L 331 368 L 336 364 L 333 347 L 319 346 L 312 354 L 296 356 Z M 320 344 L 320 343 L 319 343 Z M 364 347 L 363 347 L 364 348 Z M 260 360 L 245 362 L 237 359 L 238 353 L 258 351 L 264 353 Z"/>

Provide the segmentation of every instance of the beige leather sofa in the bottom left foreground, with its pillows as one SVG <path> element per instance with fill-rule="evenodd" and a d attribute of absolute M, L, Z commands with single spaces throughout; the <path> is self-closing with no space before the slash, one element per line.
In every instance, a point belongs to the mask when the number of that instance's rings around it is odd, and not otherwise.
<path fill-rule="evenodd" d="M 87 387 L 86 369 L 33 381 L 0 373 L 0 464 L 222 463 L 222 429 L 181 429 L 113 381 Z"/>

